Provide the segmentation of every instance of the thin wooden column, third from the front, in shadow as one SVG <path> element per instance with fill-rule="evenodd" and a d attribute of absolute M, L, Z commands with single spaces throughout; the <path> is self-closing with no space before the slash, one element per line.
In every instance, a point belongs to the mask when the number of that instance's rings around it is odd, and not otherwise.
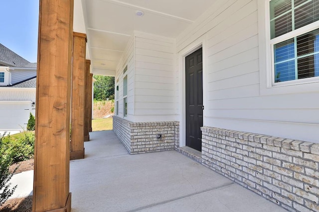
<path fill-rule="evenodd" d="M 85 95 L 84 95 L 84 141 L 90 141 L 90 114 L 92 114 L 92 111 L 90 111 L 90 104 L 92 99 L 90 99 L 90 96 L 92 95 L 92 86 L 90 86 L 90 65 L 91 61 L 86 60 L 85 63 Z M 92 105 L 92 104 L 91 104 Z M 92 132 L 92 131 L 91 131 Z"/>

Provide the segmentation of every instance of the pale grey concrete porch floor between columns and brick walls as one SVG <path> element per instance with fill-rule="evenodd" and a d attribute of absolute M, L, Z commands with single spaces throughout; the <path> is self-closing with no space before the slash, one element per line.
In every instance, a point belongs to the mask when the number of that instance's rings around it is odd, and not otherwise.
<path fill-rule="evenodd" d="M 130 155 L 113 131 L 90 133 L 70 162 L 72 212 L 281 212 L 177 151 Z"/>

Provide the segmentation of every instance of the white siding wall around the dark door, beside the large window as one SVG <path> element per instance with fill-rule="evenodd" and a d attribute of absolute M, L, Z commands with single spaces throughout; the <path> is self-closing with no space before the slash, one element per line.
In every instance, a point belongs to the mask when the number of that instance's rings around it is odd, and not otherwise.
<path fill-rule="evenodd" d="M 176 39 L 183 140 L 183 57 L 203 46 L 204 126 L 319 142 L 317 92 L 261 93 L 257 0 L 217 0 Z M 313 83 L 318 87 L 318 83 Z M 287 88 L 289 89 L 289 87 Z"/>

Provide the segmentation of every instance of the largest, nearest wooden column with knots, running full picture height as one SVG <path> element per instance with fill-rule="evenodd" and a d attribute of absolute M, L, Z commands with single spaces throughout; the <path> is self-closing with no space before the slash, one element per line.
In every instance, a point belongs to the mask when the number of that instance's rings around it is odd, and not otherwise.
<path fill-rule="evenodd" d="M 33 212 L 70 212 L 73 0 L 40 0 Z"/>

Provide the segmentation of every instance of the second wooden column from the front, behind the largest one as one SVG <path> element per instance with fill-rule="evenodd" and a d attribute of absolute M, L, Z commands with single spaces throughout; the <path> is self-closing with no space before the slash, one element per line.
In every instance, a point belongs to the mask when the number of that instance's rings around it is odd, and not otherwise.
<path fill-rule="evenodd" d="M 84 78 L 86 34 L 73 32 L 70 160 L 84 158 Z"/>

